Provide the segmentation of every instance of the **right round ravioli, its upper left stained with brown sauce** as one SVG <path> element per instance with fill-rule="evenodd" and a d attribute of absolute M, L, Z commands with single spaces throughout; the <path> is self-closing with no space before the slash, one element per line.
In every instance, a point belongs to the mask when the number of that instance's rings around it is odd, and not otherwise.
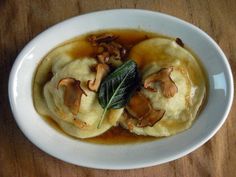
<path fill-rule="evenodd" d="M 134 46 L 129 57 L 139 64 L 143 81 L 161 68 L 173 67 L 170 77 L 178 92 L 166 98 L 158 83 L 153 85 L 157 88 L 156 92 L 142 87 L 140 92 L 149 99 L 154 109 L 165 110 L 164 116 L 153 126 L 146 127 L 139 127 L 135 119 L 122 116 L 121 125 L 132 133 L 156 137 L 170 136 L 188 129 L 206 94 L 204 74 L 194 56 L 175 40 L 154 38 Z"/>

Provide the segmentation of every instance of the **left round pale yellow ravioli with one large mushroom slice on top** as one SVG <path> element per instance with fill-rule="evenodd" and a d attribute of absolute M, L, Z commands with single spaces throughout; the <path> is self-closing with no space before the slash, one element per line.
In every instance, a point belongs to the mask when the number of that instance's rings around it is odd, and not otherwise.
<path fill-rule="evenodd" d="M 51 57 L 52 56 L 52 57 Z M 69 55 L 51 55 L 44 60 L 38 69 L 34 85 L 36 89 L 35 107 L 37 111 L 45 116 L 50 116 L 58 125 L 71 136 L 77 138 L 89 138 L 98 136 L 117 124 L 123 109 L 110 110 L 102 126 L 97 129 L 103 109 L 98 103 L 96 93 L 88 90 L 88 80 L 95 79 L 95 73 L 91 68 L 97 61 L 93 58 L 79 58 L 73 60 Z M 46 68 L 45 68 L 46 67 Z M 52 72 L 52 78 L 44 83 L 43 92 L 40 92 L 42 78 L 46 73 Z M 80 80 L 81 88 L 86 95 L 82 95 L 80 111 L 73 115 L 64 104 L 63 95 L 65 90 L 57 88 L 58 82 L 63 78 L 75 78 Z"/>

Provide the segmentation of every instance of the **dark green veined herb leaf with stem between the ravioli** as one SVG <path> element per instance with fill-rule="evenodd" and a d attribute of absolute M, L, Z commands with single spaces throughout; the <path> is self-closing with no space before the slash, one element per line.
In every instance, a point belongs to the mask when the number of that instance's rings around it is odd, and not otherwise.
<path fill-rule="evenodd" d="M 126 61 L 102 81 L 98 91 L 98 100 L 104 111 L 98 128 L 100 128 L 107 110 L 124 107 L 138 85 L 137 64 L 133 60 Z"/>

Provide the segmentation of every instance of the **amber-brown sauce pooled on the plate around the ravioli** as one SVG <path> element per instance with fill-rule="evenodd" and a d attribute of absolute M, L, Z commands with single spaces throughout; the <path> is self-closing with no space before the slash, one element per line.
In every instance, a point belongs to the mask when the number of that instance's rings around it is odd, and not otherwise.
<path fill-rule="evenodd" d="M 127 48 L 131 48 L 135 44 L 149 39 L 153 37 L 163 37 L 163 38 L 168 38 L 170 37 L 159 35 L 159 34 L 154 34 L 150 32 L 145 32 L 141 30 L 131 30 L 131 29 L 125 29 L 125 30 L 109 30 L 109 31 L 98 31 L 95 33 L 89 33 L 86 35 L 82 35 L 80 37 L 74 38 L 70 41 L 67 41 L 63 43 L 60 46 L 67 45 L 69 43 L 74 43 L 76 44 L 73 49 L 71 49 L 68 54 L 74 58 L 80 58 L 80 57 L 94 57 L 94 51 L 93 48 L 91 47 L 90 43 L 87 41 L 87 37 L 91 34 L 94 35 L 99 35 L 103 33 L 112 33 L 119 38 L 117 39 L 117 42 L 120 44 L 124 45 Z M 77 45 L 78 44 L 78 45 Z M 194 54 L 193 54 L 194 55 Z M 196 57 L 196 55 L 194 55 Z M 136 61 L 139 65 L 140 68 L 144 67 L 142 64 L 146 63 L 143 61 Z M 144 64 L 145 65 L 145 64 Z M 50 117 L 44 117 L 45 120 L 52 126 L 54 127 L 57 131 L 60 133 L 65 134 L 61 128 L 53 121 L 52 118 Z M 69 135 L 68 135 L 69 136 Z M 71 136 L 69 136 L 71 137 Z M 72 137 L 73 138 L 73 137 Z M 150 136 L 140 136 L 140 135 L 135 135 L 130 133 L 128 130 L 123 129 L 120 126 L 113 127 L 107 132 L 103 133 L 102 135 L 99 135 L 94 138 L 87 138 L 87 139 L 80 139 L 81 141 L 89 142 L 89 143 L 97 143 L 97 144 L 126 144 L 126 143 L 138 143 L 138 142 L 145 142 L 145 141 L 153 141 L 157 140 L 159 138 L 156 137 L 150 137 Z"/>

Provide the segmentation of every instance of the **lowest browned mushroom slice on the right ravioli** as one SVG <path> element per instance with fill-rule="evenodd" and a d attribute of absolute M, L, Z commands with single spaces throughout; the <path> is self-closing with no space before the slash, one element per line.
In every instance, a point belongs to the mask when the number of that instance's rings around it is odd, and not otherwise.
<path fill-rule="evenodd" d="M 137 127 L 147 127 L 147 126 L 152 127 L 162 119 L 164 114 L 165 111 L 162 109 L 161 110 L 152 109 L 151 112 L 137 124 Z"/>

